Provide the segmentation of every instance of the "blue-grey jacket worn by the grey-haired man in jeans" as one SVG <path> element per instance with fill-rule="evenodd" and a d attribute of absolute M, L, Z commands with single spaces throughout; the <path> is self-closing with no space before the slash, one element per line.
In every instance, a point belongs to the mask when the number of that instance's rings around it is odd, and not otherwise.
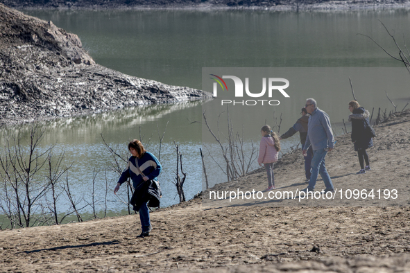
<path fill-rule="evenodd" d="M 314 112 L 309 116 L 309 123 L 307 123 L 307 138 L 303 150 L 307 150 L 310 145 L 314 151 L 325 148 L 334 148 L 334 137 L 332 133 L 332 125 L 330 125 L 330 118 L 318 107 L 316 107 Z"/>

